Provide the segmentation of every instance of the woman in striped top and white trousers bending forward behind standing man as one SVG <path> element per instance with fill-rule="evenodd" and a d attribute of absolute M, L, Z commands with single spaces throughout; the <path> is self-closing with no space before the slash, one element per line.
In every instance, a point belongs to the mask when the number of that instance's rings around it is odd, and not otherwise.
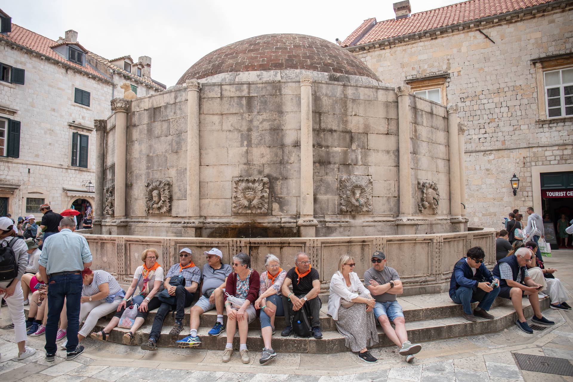
<path fill-rule="evenodd" d="M 84 326 L 77 333 L 78 343 L 88 336 L 97 320 L 117 309 L 125 292 L 113 276 L 104 270 L 84 268 L 81 271 L 84 286 L 81 289 L 80 323 L 84 320 Z M 61 348 L 65 349 L 66 340 Z"/>

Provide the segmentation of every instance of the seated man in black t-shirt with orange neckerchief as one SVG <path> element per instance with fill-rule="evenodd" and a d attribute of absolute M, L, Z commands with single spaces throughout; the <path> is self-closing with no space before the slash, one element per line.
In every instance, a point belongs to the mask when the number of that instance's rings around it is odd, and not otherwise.
<path fill-rule="evenodd" d="M 292 292 L 288 288 L 290 285 L 292 285 Z M 286 321 L 286 328 L 282 330 L 281 336 L 288 337 L 291 335 L 291 317 L 295 314 L 294 311 L 303 308 L 304 304 L 308 304 L 312 316 L 313 335 L 317 339 L 322 338 L 320 332 L 320 275 L 316 269 L 312 269 L 308 255 L 304 252 L 296 254 L 295 266 L 286 273 L 281 292 Z"/>

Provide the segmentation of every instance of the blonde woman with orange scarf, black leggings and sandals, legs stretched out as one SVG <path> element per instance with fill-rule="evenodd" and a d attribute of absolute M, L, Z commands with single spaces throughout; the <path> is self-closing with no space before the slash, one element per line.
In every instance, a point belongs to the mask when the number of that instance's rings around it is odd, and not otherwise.
<path fill-rule="evenodd" d="M 129 342 L 134 338 L 134 334 L 143 325 L 147 314 L 150 310 L 159 308 L 161 301 L 156 296 L 157 293 L 163 290 L 163 268 L 157 262 L 159 253 L 156 249 L 150 248 L 142 252 L 141 258 L 143 265 L 140 265 L 134 273 L 134 280 L 129 285 L 129 289 L 125 293 L 125 297 L 117 306 L 117 312 L 113 315 L 109 324 L 105 326 L 100 332 L 92 333 L 94 340 L 107 341 L 108 334 L 119 324 L 121 314 L 125 311 L 126 307 L 137 304 L 139 306 L 138 315 L 135 317 L 134 325 L 131 330 L 123 335 L 123 343 L 129 345 Z M 134 294 L 135 290 L 139 289 L 138 294 Z M 129 297 L 133 296 L 131 302 L 128 301 Z"/>

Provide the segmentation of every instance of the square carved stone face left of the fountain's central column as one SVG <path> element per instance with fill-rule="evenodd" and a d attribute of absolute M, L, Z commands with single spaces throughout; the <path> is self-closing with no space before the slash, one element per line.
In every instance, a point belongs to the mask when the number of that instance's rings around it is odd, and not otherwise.
<path fill-rule="evenodd" d="M 233 214 L 266 214 L 269 209 L 269 178 L 233 180 Z"/>

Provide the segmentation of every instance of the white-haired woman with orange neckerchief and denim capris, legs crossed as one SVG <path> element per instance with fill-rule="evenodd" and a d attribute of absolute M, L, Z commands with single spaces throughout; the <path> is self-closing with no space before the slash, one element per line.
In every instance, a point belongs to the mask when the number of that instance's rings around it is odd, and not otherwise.
<path fill-rule="evenodd" d="M 254 302 L 255 309 L 261 309 L 261 333 L 265 342 L 261 358 L 258 360 L 261 364 L 277 356 L 270 345 L 270 340 L 274 334 L 274 317 L 284 316 L 281 286 L 286 277 L 286 271 L 280 267 L 280 261 L 273 254 L 266 255 L 265 268 L 266 272 L 261 276 L 259 296 Z"/>

